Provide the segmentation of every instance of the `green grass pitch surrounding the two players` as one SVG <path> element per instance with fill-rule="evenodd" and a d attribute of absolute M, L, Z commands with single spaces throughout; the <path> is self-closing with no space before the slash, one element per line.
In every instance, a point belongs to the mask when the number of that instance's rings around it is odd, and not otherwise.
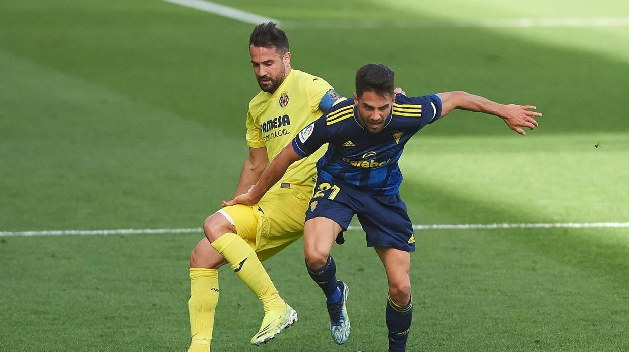
<path fill-rule="evenodd" d="M 611 0 L 535 4 L 238 2 L 281 20 L 347 23 L 629 15 Z M 0 231 L 200 227 L 247 156 L 251 29 L 157 0 L 0 4 Z M 526 137 L 464 112 L 418 133 L 401 161 L 414 223 L 629 221 L 626 27 L 287 33 L 293 67 L 344 95 L 374 61 L 409 94 L 465 90 L 542 111 Z M 0 237 L 0 350 L 185 351 L 187 256 L 201 236 Z M 213 350 L 386 350 L 384 270 L 364 234 L 346 238 L 333 255 L 351 288 L 347 345 L 328 336 L 298 241 L 265 262 L 298 324 L 248 346 L 262 309 L 221 269 Z M 409 351 L 629 349 L 628 229 L 416 240 Z"/>

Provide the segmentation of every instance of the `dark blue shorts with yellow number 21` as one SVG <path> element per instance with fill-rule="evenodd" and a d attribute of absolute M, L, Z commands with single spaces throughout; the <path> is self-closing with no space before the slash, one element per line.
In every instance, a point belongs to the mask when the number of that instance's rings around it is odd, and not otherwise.
<path fill-rule="evenodd" d="M 372 195 L 345 184 L 317 181 L 315 194 L 306 211 L 306 221 L 325 217 L 336 222 L 345 232 L 354 214 L 358 214 L 360 225 L 367 234 L 367 247 L 415 251 L 413 224 L 399 193 Z M 338 244 L 345 242 L 343 232 L 337 237 Z"/>

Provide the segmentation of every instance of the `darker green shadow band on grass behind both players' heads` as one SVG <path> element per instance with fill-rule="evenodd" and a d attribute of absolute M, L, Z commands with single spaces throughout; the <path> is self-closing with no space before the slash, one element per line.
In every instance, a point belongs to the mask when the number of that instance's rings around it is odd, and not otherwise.
<path fill-rule="evenodd" d="M 9 8 L 3 48 L 242 138 L 247 102 L 258 91 L 247 52 L 251 25 L 161 1 L 142 4 L 145 11 L 124 2 L 66 5 L 72 11 L 59 4 L 29 16 L 28 6 Z M 94 18 L 103 28 L 94 27 Z M 538 133 L 629 129 L 624 106 L 609 103 L 629 93 L 629 64 L 603 55 L 483 29 L 288 34 L 293 67 L 324 77 L 346 96 L 357 67 L 383 62 L 411 95 L 465 90 L 537 105 L 545 114 Z M 500 128 L 461 116 L 431 133 L 493 135 Z"/>

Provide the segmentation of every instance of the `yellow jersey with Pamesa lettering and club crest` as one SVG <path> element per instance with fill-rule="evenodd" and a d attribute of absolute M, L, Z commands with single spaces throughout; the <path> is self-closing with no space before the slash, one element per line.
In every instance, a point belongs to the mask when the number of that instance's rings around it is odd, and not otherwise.
<path fill-rule="evenodd" d="M 249 102 L 247 145 L 267 148 L 269 162 L 291 143 L 304 127 L 323 111 L 321 98 L 333 89 L 324 79 L 291 69 L 273 94 L 260 91 Z M 279 183 L 315 186 L 316 162 L 325 154 L 320 148 L 314 154 L 294 162 Z"/>

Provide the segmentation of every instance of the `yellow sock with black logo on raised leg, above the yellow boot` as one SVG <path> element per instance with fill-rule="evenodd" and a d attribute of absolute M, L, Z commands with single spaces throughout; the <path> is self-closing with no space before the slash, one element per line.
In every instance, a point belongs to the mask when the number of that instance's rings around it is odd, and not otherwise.
<path fill-rule="evenodd" d="M 269 274 L 242 237 L 228 232 L 212 242 L 212 247 L 225 257 L 240 280 L 260 298 L 265 312 L 284 309 L 284 300 L 279 297 Z"/>

